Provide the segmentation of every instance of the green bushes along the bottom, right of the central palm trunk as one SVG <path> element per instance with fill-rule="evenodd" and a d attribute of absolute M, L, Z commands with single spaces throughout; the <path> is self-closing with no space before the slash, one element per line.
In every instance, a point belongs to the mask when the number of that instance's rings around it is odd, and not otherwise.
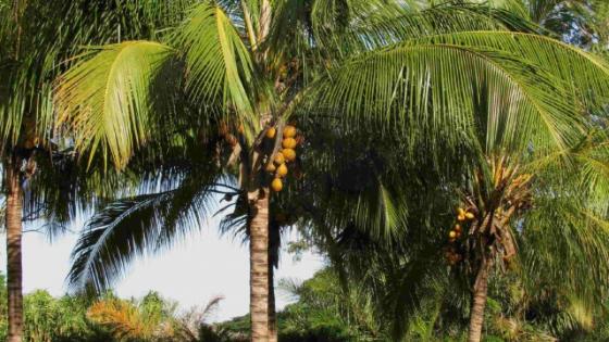
<path fill-rule="evenodd" d="M 609 312 L 589 312 L 564 293 L 548 291 L 527 299 L 518 284 L 499 278 L 493 282 L 486 313 L 485 341 L 607 341 Z M 282 341 L 390 341 L 390 326 L 376 316 L 361 288 L 344 289 L 332 269 L 319 271 L 302 283 L 283 281 L 282 290 L 296 303 L 279 313 Z M 467 308 L 459 306 L 450 288 L 428 293 L 408 327 L 405 341 L 463 341 Z M 247 335 L 247 317 L 220 325 Z M 244 339 L 246 341 L 247 339 Z"/>

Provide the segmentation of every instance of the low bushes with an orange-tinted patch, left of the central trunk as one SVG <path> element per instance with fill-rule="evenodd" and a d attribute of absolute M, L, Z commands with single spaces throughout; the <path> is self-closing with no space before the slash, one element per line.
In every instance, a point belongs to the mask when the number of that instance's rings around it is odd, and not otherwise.
<path fill-rule="evenodd" d="M 0 293 L 7 291 L 0 275 Z M 178 311 L 177 303 L 149 292 L 122 300 L 108 292 L 101 297 L 65 294 L 53 297 L 38 290 L 25 295 L 27 342 L 204 342 L 225 333 L 207 320 L 222 297 L 206 306 Z M 0 340 L 7 338 L 7 305 L 0 302 Z"/>

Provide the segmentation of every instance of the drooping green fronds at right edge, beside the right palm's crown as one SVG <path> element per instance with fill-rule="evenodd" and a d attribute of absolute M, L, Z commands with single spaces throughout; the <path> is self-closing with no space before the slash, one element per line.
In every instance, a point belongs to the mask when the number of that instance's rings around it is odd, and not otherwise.
<path fill-rule="evenodd" d="M 609 281 L 607 218 L 568 199 L 537 199 L 536 208 L 524 217 L 520 245 L 529 289 L 540 282 L 560 284 L 562 293 L 589 301 L 604 293 Z"/>

